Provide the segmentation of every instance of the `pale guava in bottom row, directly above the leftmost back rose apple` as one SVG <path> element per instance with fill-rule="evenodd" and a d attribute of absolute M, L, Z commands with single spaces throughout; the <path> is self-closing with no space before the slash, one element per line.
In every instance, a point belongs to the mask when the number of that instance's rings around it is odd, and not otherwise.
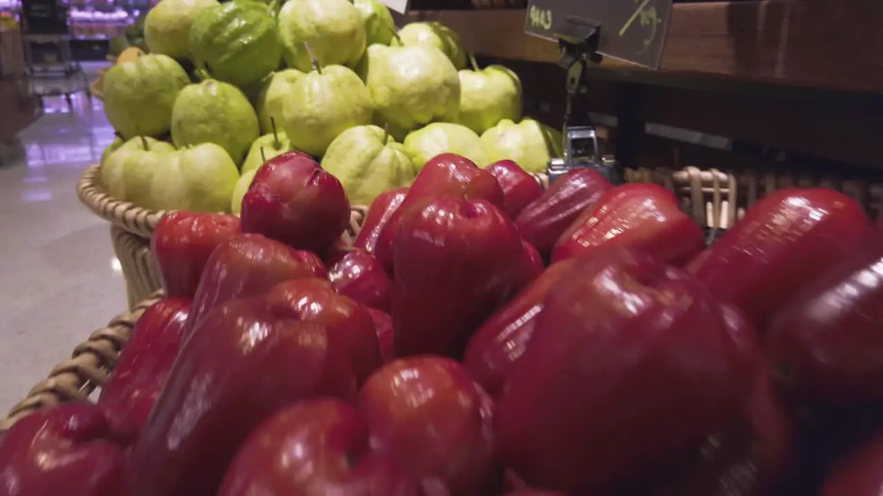
<path fill-rule="evenodd" d="M 202 143 L 166 155 L 150 183 L 157 209 L 227 212 L 239 180 L 236 163 L 222 147 Z"/>

